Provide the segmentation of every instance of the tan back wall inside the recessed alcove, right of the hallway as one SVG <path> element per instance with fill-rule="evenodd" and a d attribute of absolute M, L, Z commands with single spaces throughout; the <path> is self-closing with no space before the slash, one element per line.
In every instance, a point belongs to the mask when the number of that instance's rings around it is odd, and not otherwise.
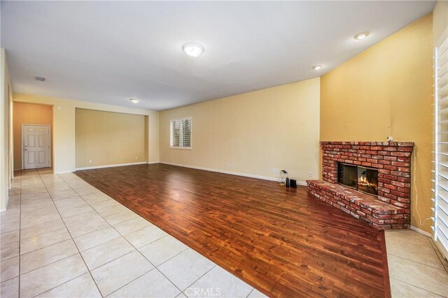
<path fill-rule="evenodd" d="M 76 109 L 76 167 L 148 161 L 146 116 Z"/>

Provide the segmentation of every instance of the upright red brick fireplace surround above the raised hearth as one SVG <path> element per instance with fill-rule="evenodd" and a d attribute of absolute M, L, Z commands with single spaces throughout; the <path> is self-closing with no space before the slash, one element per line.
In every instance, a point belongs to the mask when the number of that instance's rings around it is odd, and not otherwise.
<path fill-rule="evenodd" d="M 322 179 L 337 183 L 337 162 L 378 169 L 378 198 L 410 207 L 413 142 L 321 142 Z"/>

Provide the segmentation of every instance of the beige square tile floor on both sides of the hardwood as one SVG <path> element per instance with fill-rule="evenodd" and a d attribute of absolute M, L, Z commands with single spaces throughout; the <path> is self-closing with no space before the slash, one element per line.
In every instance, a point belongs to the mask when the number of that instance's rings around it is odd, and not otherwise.
<path fill-rule="evenodd" d="M 0 214 L 1 297 L 265 297 L 76 175 L 29 170 Z M 393 297 L 447 297 L 428 237 L 387 231 Z"/>

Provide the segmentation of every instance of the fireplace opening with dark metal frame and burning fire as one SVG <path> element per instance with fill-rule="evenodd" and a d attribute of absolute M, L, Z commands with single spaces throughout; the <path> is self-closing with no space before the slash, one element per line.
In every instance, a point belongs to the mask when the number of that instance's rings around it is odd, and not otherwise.
<path fill-rule="evenodd" d="M 368 195 L 378 195 L 378 171 L 371 167 L 337 163 L 337 183 Z"/>

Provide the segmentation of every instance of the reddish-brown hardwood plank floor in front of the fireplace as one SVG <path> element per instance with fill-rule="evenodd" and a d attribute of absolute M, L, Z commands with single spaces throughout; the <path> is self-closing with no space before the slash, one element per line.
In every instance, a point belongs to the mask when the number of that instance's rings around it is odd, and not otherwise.
<path fill-rule="evenodd" d="M 304 186 L 163 164 L 76 174 L 269 297 L 390 297 L 384 232 Z"/>

